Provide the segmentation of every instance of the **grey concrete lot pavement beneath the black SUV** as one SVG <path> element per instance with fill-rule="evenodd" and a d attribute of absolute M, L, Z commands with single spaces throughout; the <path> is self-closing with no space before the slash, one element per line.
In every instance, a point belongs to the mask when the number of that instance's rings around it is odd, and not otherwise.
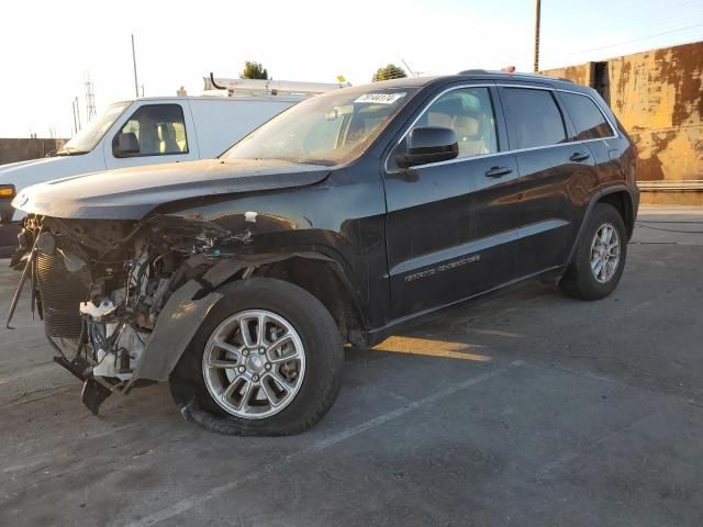
<path fill-rule="evenodd" d="M 703 525 L 701 209 L 643 208 L 607 299 L 532 283 L 349 351 L 295 437 L 204 431 L 166 385 L 96 418 L 23 307 L 0 336 L 3 526 Z"/>

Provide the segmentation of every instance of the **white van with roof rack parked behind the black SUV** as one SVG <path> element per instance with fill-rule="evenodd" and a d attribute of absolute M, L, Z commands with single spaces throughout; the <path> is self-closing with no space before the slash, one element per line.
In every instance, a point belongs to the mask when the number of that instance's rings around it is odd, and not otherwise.
<path fill-rule="evenodd" d="M 213 158 L 306 97 L 344 86 L 212 79 L 211 74 L 205 89 L 227 90 L 225 97 L 149 97 L 115 102 L 55 157 L 0 166 L 0 223 L 24 216 L 11 202 L 31 184 L 114 168 Z"/>

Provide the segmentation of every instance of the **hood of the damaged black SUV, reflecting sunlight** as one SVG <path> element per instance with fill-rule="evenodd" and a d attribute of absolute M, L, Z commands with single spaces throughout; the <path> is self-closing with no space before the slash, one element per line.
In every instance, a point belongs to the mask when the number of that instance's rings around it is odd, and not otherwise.
<path fill-rule="evenodd" d="M 301 187 L 328 167 L 282 160 L 207 159 L 71 176 L 20 192 L 27 213 L 83 220 L 141 220 L 158 205 L 188 198 Z"/>

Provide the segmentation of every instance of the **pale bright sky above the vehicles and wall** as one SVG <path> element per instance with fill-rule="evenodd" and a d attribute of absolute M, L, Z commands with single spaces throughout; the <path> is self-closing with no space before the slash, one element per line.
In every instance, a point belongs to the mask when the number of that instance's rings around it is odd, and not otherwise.
<path fill-rule="evenodd" d="M 100 111 L 134 97 L 131 36 L 146 96 L 202 90 L 245 60 L 278 80 L 369 82 L 514 65 L 532 71 L 534 0 L 10 1 L 0 21 L 0 137 L 69 137 L 85 79 Z M 540 68 L 703 40 L 701 0 L 542 0 Z"/>

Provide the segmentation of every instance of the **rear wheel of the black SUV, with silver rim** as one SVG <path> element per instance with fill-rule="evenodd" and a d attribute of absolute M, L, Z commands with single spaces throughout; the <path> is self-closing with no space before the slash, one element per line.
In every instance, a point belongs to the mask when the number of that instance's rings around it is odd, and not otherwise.
<path fill-rule="evenodd" d="M 611 294 L 623 276 L 627 235 L 622 216 L 607 203 L 596 204 L 587 222 L 560 285 L 571 296 L 599 300 Z"/>

